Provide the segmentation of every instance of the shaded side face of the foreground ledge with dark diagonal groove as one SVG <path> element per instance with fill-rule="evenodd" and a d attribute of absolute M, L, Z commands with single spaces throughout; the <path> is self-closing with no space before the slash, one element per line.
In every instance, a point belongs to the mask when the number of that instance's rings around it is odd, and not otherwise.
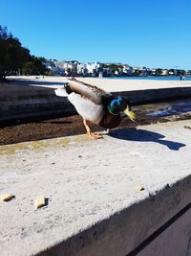
<path fill-rule="evenodd" d="M 39 255 L 191 255 L 190 195 L 188 176 Z"/>

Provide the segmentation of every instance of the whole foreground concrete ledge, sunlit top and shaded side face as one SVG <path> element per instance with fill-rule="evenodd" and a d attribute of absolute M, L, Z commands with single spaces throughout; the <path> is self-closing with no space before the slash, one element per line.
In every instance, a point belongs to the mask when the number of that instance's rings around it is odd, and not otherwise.
<path fill-rule="evenodd" d="M 189 126 L 1 146 L 1 255 L 190 255 Z"/>

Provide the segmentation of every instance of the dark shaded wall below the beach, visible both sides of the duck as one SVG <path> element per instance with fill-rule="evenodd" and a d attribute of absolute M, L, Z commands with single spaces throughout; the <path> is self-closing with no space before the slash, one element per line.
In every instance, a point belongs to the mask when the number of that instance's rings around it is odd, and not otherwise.
<path fill-rule="evenodd" d="M 147 89 L 113 94 L 126 96 L 132 105 L 140 105 L 189 98 L 191 87 Z M 0 122 L 74 113 L 76 113 L 74 106 L 68 99 L 55 96 L 51 88 L 0 84 Z"/>

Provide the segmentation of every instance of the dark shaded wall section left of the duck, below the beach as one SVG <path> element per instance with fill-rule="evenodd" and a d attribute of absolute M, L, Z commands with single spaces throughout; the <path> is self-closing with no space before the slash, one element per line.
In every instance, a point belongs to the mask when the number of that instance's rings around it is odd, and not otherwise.
<path fill-rule="evenodd" d="M 53 89 L 0 84 L 0 122 L 74 112 L 68 99 L 55 96 Z"/>

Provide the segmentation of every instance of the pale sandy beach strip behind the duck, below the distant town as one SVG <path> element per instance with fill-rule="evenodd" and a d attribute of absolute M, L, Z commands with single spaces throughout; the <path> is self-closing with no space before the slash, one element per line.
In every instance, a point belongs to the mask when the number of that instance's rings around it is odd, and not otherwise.
<path fill-rule="evenodd" d="M 37 78 L 37 79 L 36 79 Z M 66 77 L 42 77 L 42 76 L 21 76 L 9 77 L 9 80 L 15 80 L 16 83 L 30 84 L 35 86 L 44 86 L 57 88 L 62 82 L 68 81 Z M 99 79 L 99 78 L 77 78 L 79 81 L 88 82 L 96 85 L 106 91 L 132 91 L 145 89 L 190 87 L 191 81 L 154 81 L 154 80 L 125 80 L 125 79 Z"/>

